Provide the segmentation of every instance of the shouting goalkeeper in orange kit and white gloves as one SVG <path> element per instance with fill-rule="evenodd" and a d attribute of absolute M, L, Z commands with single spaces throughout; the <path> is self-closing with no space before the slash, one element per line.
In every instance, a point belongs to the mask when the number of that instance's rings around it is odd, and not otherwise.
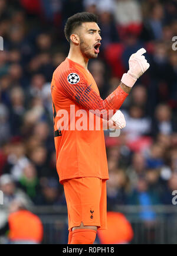
<path fill-rule="evenodd" d="M 109 175 L 103 126 L 125 126 L 119 108 L 137 78 L 149 68 L 142 48 L 130 57 L 129 71 L 120 85 L 102 100 L 87 69 L 101 45 L 97 23 L 96 15 L 89 12 L 68 18 L 64 32 L 70 52 L 55 69 L 51 82 L 57 172 L 68 209 L 68 244 L 93 244 L 97 229 L 106 229 Z M 100 120 L 100 129 L 93 120 Z"/>

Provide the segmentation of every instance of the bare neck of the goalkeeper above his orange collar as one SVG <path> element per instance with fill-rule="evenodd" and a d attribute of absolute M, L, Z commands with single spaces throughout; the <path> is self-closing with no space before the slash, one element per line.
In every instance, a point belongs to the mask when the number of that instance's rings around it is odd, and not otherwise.
<path fill-rule="evenodd" d="M 73 60 L 74 62 L 80 64 L 85 69 L 87 69 L 89 59 L 84 57 L 83 54 L 80 52 L 80 49 L 77 47 L 70 47 L 70 52 L 68 53 L 68 59 Z"/>

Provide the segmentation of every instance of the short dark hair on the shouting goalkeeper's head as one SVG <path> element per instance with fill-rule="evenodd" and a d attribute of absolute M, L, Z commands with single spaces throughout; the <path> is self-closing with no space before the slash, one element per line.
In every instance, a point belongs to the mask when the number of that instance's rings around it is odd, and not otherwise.
<path fill-rule="evenodd" d="M 70 42 L 70 36 L 73 33 L 73 30 L 86 22 L 98 23 L 98 17 L 90 12 L 78 12 L 68 18 L 64 26 L 64 34 L 68 42 Z"/>

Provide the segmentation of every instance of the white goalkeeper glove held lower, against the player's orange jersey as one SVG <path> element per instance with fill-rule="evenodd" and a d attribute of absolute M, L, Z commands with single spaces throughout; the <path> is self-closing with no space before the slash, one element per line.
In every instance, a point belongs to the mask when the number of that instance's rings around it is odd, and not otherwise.
<path fill-rule="evenodd" d="M 126 120 L 124 119 L 124 115 L 120 110 L 117 110 L 108 123 L 109 128 L 112 129 L 122 129 L 126 126 Z"/>

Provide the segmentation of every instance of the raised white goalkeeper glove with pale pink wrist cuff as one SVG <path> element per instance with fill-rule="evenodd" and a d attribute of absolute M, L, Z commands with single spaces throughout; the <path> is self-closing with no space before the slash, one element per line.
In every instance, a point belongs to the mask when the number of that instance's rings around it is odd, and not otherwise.
<path fill-rule="evenodd" d="M 133 87 L 136 80 L 143 75 L 150 66 L 145 59 L 145 56 L 143 56 L 143 53 L 146 53 L 145 48 L 139 49 L 136 53 L 133 53 L 133 55 L 130 56 L 129 71 L 124 73 L 121 79 L 121 82 L 127 85 L 127 87 Z"/>

